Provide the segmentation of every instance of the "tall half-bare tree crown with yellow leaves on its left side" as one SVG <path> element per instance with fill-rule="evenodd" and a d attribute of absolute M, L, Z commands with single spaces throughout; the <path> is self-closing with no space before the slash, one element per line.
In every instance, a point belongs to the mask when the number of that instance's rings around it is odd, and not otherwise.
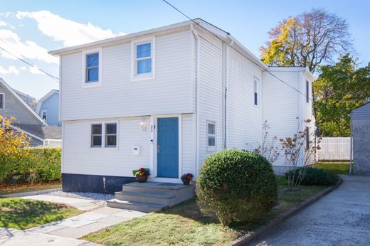
<path fill-rule="evenodd" d="M 265 64 L 302 66 L 312 73 L 352 47 L 347 21 L 323 9 L 287 18 L 268 35 L 270 41 L 260 48 Z"/>

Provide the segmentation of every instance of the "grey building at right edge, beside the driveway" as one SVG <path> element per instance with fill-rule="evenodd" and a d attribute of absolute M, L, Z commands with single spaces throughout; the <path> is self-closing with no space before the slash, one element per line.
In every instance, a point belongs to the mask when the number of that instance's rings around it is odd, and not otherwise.
<path fill-rule="evenodd" d="M 351 112 L 352 173 L 370 175 L 370 102 Z"/>

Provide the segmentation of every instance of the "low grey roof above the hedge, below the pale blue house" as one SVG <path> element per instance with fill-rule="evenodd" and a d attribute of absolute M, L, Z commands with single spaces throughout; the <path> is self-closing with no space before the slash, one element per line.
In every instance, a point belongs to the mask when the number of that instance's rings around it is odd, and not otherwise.
<path fill-rule="evenodd" d="M 39 140 L 44 139 L 62 139 L 62 127 L 59 126 L 41 126 L 38 124 L 12 124 L 17 129 L 21 130 L 28 136 L 38 137 Z"/>

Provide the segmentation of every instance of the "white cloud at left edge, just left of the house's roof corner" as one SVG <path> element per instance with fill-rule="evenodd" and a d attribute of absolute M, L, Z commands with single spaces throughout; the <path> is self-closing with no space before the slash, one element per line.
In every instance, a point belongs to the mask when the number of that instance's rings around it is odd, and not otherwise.
<path fill-rule="evenodd" d="M 38 46 L 38 44 L 33 41 L 22 42 L 18 34 L 13 31 L 0 29 L 0 38 L 7 44 L 4 48 L 9 49 L 14 55 L 19 56 L 19 54 L 22 54 L 26 58 L 40 60 L 45 63 L 59 63 L 58 58 L 49 55 L 46 48 Z M 6 53 L 4 50 L 1 50 L 1 55 L 4 58 L 16 60 L 13 55 Z"/>

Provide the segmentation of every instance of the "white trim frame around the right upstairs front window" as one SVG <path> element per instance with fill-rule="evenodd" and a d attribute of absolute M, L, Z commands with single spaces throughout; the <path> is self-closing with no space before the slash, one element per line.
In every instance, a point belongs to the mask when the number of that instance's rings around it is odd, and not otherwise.
<path fill-rule="evenodd" d="M 145 73 L 142 75 L 137 75 L 137 59 L 136 59 L 136 47 L 143 43 L 152 43 L 151 45 L 151 55 L 152 55 L 152 73 Z M 139 80 L 153 80 L 155 78 L 155 37 L 141 38 L 131 41 L 131 81 Z"/>

